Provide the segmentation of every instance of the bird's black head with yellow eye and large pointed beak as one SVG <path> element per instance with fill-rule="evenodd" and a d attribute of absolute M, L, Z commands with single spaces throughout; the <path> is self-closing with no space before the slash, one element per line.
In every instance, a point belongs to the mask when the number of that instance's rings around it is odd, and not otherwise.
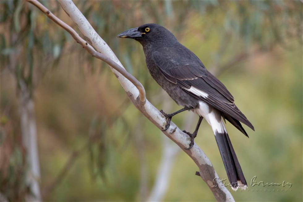
<path fill-rule="evenodd" d="M 117 37 L 131 38 L 139 41 L 142 45 L 177 41 L 169 30 L 158 24 L 143 24 L 140 27 L 126 30 L 118 34 Z"/>

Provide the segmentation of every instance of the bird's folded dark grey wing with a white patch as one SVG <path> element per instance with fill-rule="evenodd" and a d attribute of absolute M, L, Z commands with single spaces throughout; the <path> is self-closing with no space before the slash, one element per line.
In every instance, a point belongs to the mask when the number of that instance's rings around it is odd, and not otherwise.
<path fill-rule="evenodd" d="M 157 49 L 152 58 L 167 80 L 254 130 L 227 88 L 185 46 Z"/>

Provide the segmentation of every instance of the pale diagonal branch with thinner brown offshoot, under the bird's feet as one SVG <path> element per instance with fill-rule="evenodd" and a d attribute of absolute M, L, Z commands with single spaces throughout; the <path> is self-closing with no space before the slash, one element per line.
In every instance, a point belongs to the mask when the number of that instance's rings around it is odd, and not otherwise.
<path fill-rule="evenodd" d="M 117 76 L 117 79 L 126 91 L 129 99 L 133 102 L 137 109 L 140 110 L 142 114 L 146 116 L 156 127 L 159 129 L 164 128 L 166 125 L 165 117 L 145 98 L 145 91 L 142 84 L 140 84 L 138 80 L 136 80 L 123 68 L 121 62 L 118 60 L 113 51 L 96 33 L 91 24 L 89 24 L 87 19 L 71 0 L 59 0 L 59 2 L 66 14 L 69 15 L 79 27 L 86 40 L 92 46 L 94 46 L 99 53 L 88 45 L 86 41 L 79 37 L 75 30 L 54 16 L 41 3 L 37 2 L 36 0 L 29 2 L 38 7 L 50 19 L 68 31 L 73 38 L 94 57 L 108 63 L 112 67 L 111 69 L 113 73 Z M 231 193 L 226 187 L 224 187 L 222 183 L 220 183 L 218 174 L 201 148 L 199 148 L 197 144 L 194 144 L 190 150 L 185 149 L 190 143 L 190 138 L 187 134 L 183 133 L 173 122 L 171 122 L 169 129 L 164 131 L 164 134 L 173 140 L 187 155 L 193 159 L 199 168 L 200 177 L 207 183 L 207 186 L 212 191 L 216 200 L 234 201 Z"/>

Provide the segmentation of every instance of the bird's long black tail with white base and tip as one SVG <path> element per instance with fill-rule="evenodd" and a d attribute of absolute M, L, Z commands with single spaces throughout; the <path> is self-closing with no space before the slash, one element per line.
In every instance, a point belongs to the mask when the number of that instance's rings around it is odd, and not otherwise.
<path fill-rule="evenodd" d="M 222 119 L 220 120 L 220 127 L 220 132 L 214 130 L 214 133 L 229 183 L 234 191 L 236 191 L 238 187 L 246 189 L 247 183 L 244 174 Z"/>

